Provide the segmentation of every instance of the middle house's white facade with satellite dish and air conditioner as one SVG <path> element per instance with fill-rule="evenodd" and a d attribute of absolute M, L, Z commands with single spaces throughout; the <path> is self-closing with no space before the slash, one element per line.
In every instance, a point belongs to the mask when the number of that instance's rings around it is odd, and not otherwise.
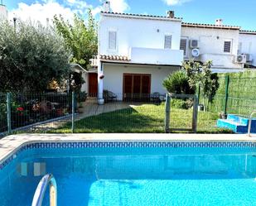
<path fill-rule="evenodd" d="M 235 60 L 239 29 L 239 26 L 223 26 L 220 23 L 209 25 L 182 22 L 181 46 L 184 48 L 184 59 L 200 62 L 212 60 L 214 69 L 243 69 L 244 64 Z M 195 50 L 197 52 L 193 54 Z"/>

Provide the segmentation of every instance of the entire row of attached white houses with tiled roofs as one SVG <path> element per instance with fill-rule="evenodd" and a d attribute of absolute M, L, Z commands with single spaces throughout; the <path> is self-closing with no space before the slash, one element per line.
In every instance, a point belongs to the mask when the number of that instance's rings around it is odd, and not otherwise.
<path fill-rule="evenodd" d="M 256 32 L 239 26 L 182 22 L 166 17 L 110 12 L 104 1 L 99 20 L 99 50 L 94 59 L 97 72 L 89 74 L 88 91 L 104 103 L 104 90 L 118 100 L 166 93 L 162 80 L 181 68 L 183 60 L 212 60 L 215 71 L 243 71 L 255 66 Z M 95 85 L 97 82 L 97 86 Z"/>

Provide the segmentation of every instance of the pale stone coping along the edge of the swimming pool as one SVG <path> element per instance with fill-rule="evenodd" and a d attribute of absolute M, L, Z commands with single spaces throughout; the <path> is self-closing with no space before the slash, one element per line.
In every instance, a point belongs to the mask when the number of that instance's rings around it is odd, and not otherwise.
<path fill-rule="evenodd" d="M 184 141 L 184 142 L 256 142 L 256 135 L 244 134 L 157 134 L 157 133 L 87 133 L 87 134 L 18 134 L 0 140 L 0 164 L 22 146 L 40 142 L 72 141 Z"/>

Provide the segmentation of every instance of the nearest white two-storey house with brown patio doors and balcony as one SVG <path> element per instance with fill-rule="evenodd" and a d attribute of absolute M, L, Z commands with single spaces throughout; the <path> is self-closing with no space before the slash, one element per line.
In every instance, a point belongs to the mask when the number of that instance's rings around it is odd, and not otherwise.
<path fill-rule="evenodd" d="M 162 80 L 180 69 L 181 19 L 102 12 L 99 22 L 98 98 L 118 100 L 166 93 Z"/>

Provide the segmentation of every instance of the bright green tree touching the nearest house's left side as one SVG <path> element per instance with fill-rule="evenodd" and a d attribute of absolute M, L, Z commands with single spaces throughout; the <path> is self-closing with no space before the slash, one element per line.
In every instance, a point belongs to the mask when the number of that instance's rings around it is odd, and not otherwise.
<path fill-rule="evenodd" d="M 72 63 L 78 63 L 85 69 L 89 60 L 97 54 L 98 38 L 97 26 L 91 10 L 88 12 L 88 21 L 74 15 L 74 23 L 66 22 L 63 17 L 54 17 L 54 25 L 58 33 L 64 37 L 66 46 L 72 51 Z"/>

